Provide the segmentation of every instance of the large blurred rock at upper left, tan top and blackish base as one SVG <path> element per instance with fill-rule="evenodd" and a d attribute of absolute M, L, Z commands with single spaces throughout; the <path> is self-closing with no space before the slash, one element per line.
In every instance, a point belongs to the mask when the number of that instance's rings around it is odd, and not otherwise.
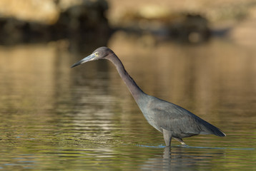
<path fill-rule="evenodd" d="M 104 15 L 108 9 L 108 4 L 105 0 L 26 0 L 26 3 L 24 1 L 23 3 L 26 4 L 24 6 L 27 9 L 29 9 L 28 6 L 31 8 L 27 12 L 24 12 L 24 9 L 19 9 L 20 1 L 16 1 L 18 2 L 17 4 L 14 1 L 10 1 L 10 3 L 1 1 L 1 44 L 48 42 L 61 38 L 89 42 L 96 35 L 101 36 L 101 38 L 96 40 L 94 38 L 94 41 L 106 41 L 105 39 L 109 35 L 109 25 Z M 12 6 L 14 8 L 13 11 L 16 11 L 16 13 L 5 12 L 3 5 Z M 54 7 L 48 8 L 49 13 L 46 12 L 47 10 L 37 10 L 41 6 L 53 5 Z M 11 7 L 6 9 L 9 8 Z M 19 15 L 17 11 L 22 15 Z M 34 17 L 32 17 L 33 15 Z"/>

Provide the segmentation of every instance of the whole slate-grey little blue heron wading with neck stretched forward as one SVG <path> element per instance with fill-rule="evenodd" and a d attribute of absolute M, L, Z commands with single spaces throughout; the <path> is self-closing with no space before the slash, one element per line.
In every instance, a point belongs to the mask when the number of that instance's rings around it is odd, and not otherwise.
<path fill-rule="evenodd" d="M 171 145 L 172 138 L 181 142 L 182 145 L 186 145 L 182 138 L 188 138 L 193 135 L 213 134 L 220 137 L 226 136 L 219 128 L 207 123 L 179 105 L 174 105 L 144 93 L 132 77 L 129 76 L 116 54 L 107 47 L 97 48 L 91 55 L 74 63 L 72 68 L 98 59 L 107 59 L 114 63 L 147 122 L 164 135 L 164 142 L 167 147 Z"/>

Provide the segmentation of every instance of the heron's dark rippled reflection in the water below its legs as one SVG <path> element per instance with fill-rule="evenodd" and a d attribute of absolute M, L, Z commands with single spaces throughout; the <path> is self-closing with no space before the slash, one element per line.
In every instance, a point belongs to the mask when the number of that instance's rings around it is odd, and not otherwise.
<path fill-rule="evenodd" d="M 198 162 L 212 165 L 212 159 L 223 157 L 224 149 L 172 146 L 164 147 L 162 155 L 149 158 L 142 165 L 143 170 L 195 170 Z M 203 167 L 203 166 L 202 166 Z"/>

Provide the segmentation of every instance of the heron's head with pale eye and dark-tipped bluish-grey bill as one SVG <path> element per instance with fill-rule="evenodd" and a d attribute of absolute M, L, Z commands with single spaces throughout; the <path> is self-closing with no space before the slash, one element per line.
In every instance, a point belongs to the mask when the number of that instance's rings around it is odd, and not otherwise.
<path fill-rule="evenodd" d="M 74 65 L 71 66 L 71 68 L 73 68 L 75 66 L 79 66 L 80 64 L 86 63 L 89 61 L 95 61 L 98 59 L 107 58 L 108 56 L 111 56 L 113 53 L 114 52 L 107 47 L 97 48 L 91 55 L 87 56 L 86 58 L 83 58 L 81 61 L 78 61 L 77 63 L 74 63 Z"/>

